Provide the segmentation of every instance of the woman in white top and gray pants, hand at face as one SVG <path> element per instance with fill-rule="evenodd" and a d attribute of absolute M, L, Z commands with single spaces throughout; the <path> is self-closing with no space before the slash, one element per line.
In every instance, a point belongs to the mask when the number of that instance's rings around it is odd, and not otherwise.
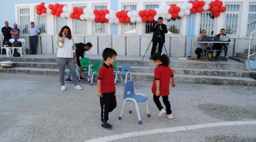
<path fill-rule="evenodd" d="M 66 90 L 64 74 L 66 65 L 71 70 L 72 77 L 74 80 L 75 89 L 82 90 L 78 85 L 76 76 L 76 46 L 71 36 L 71 31 L 68 26 L 63 26 L 60 30 L 60 34 L 57 37 L 57 64 L 60 70 L 60 85 L 61 91 Z"/>

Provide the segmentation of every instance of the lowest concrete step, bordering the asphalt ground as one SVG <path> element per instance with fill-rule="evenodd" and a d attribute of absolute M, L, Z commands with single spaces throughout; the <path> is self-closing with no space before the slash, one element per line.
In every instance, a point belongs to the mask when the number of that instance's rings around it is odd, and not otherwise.
<path fill-rule="evenodd" d="M 14 67 L 9 69 L 0 68 L 0 72 L 36 74 L 36 75 L 41 74 L 41 75 L 54 75 L 54 76 L 59 75 L 58 69 L 24 68 L 24 67 Z M 153 73 L 132 72 L 132 79 L 134 80 L 153 80 L 153 76 L 154 76 Z M 185 83 L 256 86 L 255 79 L 242 78 L 242 77 L 175 74 L 175 78 L 176 78 L 176 82 L 185 82 Z"/>

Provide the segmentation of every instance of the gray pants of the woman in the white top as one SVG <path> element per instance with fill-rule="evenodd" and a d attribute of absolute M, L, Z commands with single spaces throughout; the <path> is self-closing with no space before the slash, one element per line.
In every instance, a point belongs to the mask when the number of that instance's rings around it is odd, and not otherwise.
<path fill-rule="evenodd" d="M 77 86 L 78 81 L 77 81 L 77 76 L 76 76 L 76 66 L 74 63 L 74 58 L 57 57 L 57 64 L 58 64 L 59 70 L 60 70 L 60 85 L 61 86 L 65 85 L 64 74 L 65 74 L 66 65 L 68 65 L 68 68 L 70 69 L 72 77 L 73 77 L 74 85 Z"/>

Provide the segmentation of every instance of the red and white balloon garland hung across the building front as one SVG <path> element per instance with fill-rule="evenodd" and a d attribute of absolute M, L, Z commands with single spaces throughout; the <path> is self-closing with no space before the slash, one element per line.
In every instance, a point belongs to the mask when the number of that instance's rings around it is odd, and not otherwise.
<path fill-rule="evenodd" d="M 114 11 L 114 10 L 93 10 L 92 8 L 77 8 L 76 6 L 64 6 L 63 4 L 41 3 L 36 5 L 37 15 L 48 13 L 61 18 L 90 20 L 106 22 L 110 24 L 135 23 L 157 21 L 158 17 L 164 19 L 176 19 L 188 16 L 190 13 L 210 10 L 214 17 L 219 17 L 220 12 L 225 12 L 226 7 L 222 6 L 220 0 L 195 0 L 183 4 L 161 5 L 159 8 L 141 11 Z"/>

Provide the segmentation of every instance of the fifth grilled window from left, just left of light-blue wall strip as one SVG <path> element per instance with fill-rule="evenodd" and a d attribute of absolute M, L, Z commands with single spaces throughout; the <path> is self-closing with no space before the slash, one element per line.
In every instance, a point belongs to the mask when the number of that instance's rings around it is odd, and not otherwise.
<path fill-rule="evenodd" d="M 107 5 L 94 5 L 94 9 L 97 10 L 106 10 Z M 93 34 L 107 34 L 107 23 L 105 22 L 92 22 L 92 32 Z"/>

